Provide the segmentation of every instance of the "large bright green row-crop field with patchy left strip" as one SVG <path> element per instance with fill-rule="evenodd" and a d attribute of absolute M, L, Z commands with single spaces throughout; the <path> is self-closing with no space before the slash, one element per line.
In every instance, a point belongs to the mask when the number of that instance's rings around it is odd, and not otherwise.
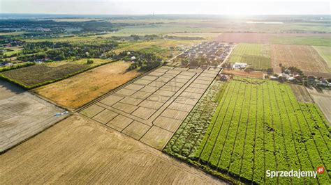
<path fill-rule="evenodd" d="M 330 183 L 330 126 L 315 104 L 297 102 L 290 86 L 235 77 L 218 94 L 209 90 L 208 96 L 191 111 L 165 152 L 226 179 Z M 215 104 L 216 111 L 206 109 Z M 207 113 L 214 115 L 208 119 L 203 116 Z M 266 170 L 316 171 L 318 166 L 326 170 L 316 179 L 265 176 Z"/>

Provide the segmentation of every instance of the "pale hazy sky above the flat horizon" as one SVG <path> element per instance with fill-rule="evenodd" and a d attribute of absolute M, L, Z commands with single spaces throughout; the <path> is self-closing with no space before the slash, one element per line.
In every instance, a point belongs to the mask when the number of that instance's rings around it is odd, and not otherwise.
<path fill-rule="evenodd" d="M 0 0 L 0 13 L 77 15 L 331 15 L 331 0 Z"/>

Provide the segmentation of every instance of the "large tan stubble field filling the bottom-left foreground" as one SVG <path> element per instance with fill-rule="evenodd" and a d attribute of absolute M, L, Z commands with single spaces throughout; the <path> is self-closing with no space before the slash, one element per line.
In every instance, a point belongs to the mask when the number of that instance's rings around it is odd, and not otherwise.
<path fill-rule="evenodd" d="M 0 156 L 3 184 L 221 184 L 132 138 L 73 115 Z"/>

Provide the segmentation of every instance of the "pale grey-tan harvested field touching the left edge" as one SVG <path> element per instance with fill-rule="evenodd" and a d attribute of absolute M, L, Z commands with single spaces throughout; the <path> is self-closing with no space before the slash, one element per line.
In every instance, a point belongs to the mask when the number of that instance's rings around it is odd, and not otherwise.
<path fill-rule="evenodd" d="M 61 108 L 0 80 L 0 152 L 38 134 L 65 115 Z"/>

